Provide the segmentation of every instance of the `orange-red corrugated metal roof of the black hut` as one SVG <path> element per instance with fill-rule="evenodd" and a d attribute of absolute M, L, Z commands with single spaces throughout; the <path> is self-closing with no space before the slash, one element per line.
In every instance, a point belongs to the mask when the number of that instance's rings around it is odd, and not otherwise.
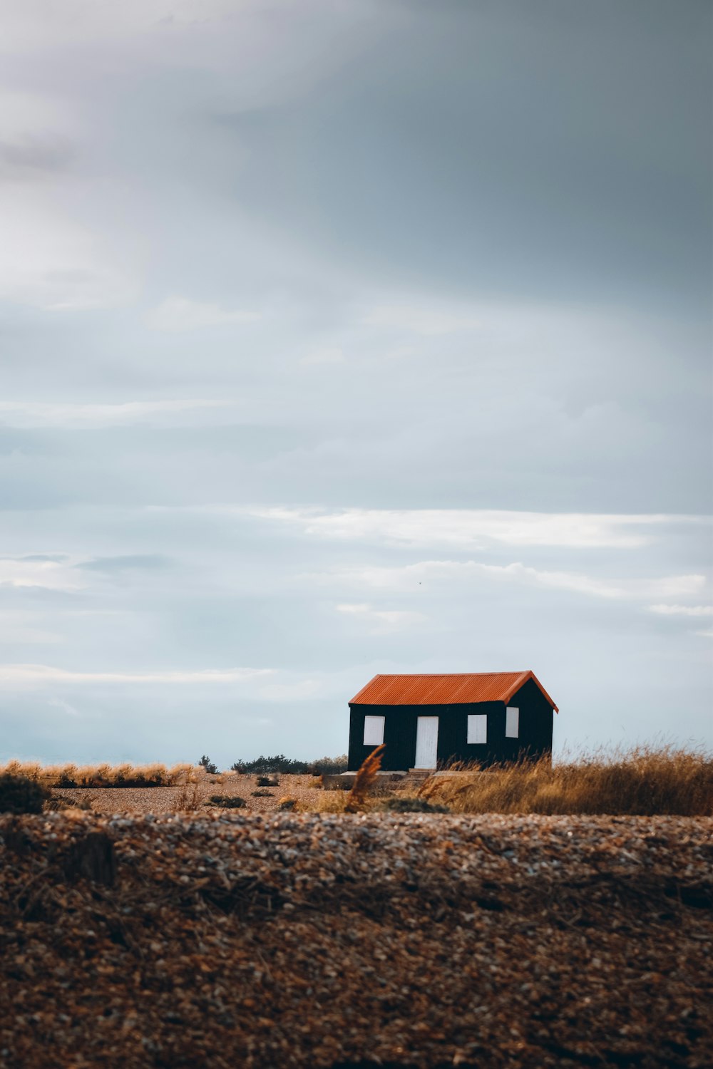
<path fill-rule="evenodd" d="M 456 672 L 447 676 L 374 676 L 352 698 L 358 706 L 465 706 L 478 701 L 509 701 L 528 679 L 533 680 L 555 710 L 532 671 Z"/>

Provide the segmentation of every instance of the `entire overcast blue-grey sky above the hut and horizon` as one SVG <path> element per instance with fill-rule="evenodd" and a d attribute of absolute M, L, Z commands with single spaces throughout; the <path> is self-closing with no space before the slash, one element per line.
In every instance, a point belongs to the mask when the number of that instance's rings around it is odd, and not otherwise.
<path fill-rule="evenodd" d="M 710 3 L 0 12 L 0 759 L 711 745 Z"/>

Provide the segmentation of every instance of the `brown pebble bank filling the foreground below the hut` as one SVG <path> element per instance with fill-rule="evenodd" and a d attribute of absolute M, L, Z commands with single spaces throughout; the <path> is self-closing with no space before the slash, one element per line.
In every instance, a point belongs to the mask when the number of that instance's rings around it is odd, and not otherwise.
<path fill-rule="evenodd" d="M 713 820 L 0 818 L 0 1066 L 713 1065 Z"/>

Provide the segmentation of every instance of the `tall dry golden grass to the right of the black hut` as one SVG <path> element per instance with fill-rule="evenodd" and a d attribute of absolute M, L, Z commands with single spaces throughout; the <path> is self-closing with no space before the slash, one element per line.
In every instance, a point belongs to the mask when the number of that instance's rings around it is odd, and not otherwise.
<path fill-rule="evenodd" d="M 713 755 L 638 747 L 428 779 L 419 794 L 452 812 L 713 816 Z"/>

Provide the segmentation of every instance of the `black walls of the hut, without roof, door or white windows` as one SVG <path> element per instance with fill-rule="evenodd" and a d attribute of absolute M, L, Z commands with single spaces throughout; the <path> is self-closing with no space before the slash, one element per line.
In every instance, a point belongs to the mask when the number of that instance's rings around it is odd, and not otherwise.
<path fill-rule="evenodd" d="M 365 716 L 384 716 L 386 749 L 382 760 L 385 771 L 413 769 L 416 759 L 416 722 L 419 716 L 438 717 L 438 764 L 450 761 L 479 761 L 495 764 L 515 761 L 528 756 L 552 754 L 553 710 L 542 691 L 528 680 L 513 695 L 509 706 L 520 709 L 520 738 L 506 739 L 506 706 L 502 701 L 483 701 L 458 706 L 359 706 L 350 704 L 350 763 L 351 771 L 359 768 L 365 757 L 374 749 L 363 745 Z M 487 714 L 487 742 L 468 744 L 467 717 L 469 713 Z"/>

